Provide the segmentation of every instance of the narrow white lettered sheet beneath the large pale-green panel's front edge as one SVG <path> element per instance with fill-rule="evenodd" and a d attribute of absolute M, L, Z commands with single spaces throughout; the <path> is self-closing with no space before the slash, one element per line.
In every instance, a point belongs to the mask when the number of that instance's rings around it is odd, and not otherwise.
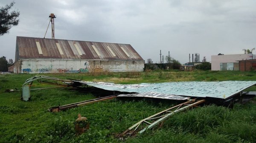
<path fill-rule="evenodd" d="M 160 99 L 172 99 L 172 100 L 187 100 L 188 97 L 161 94 L 161 93 L 134 93 L 134 94 L 120 94 L 117 97 L 148 97 L 148 98 L 160 98 Z"/>

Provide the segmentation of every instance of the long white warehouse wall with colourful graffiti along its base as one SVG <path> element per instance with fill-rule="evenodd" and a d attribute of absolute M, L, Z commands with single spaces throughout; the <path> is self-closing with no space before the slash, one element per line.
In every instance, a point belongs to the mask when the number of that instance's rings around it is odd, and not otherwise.
<path fill-rule="evenodd" d="M 86 73 L 143 71 L 144 61 L 19 60 L 15 73 Z"/>

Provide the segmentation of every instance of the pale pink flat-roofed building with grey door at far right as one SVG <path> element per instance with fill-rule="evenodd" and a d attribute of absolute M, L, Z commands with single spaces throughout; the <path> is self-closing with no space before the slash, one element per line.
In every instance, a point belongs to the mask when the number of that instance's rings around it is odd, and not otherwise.
<path fill-rule="evenodd" d="M 239 70 L 239 62 L 241 60 L 255 59 L 255 55 L 234 54 L 234 55 L 213 55 L 211 56 L 212 70 Z"/>

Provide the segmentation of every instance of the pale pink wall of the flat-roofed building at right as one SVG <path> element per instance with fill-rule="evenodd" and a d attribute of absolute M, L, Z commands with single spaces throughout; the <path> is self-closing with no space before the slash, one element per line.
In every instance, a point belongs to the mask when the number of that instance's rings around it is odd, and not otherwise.
<path fill-rule="evenodd" d="M 254 56 L 253 54 L 213 55 L 211 56 L 212 70 L 220 70 L 220 63 L 233 63 L 240 60 L 253 59 Z"/>

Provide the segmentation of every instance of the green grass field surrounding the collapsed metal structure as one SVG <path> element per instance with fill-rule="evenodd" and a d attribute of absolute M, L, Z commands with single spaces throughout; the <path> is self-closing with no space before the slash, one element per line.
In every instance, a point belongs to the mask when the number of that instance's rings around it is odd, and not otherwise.
<path fill-rule="evenodd" d="M 256 72 L 239 71 L 154 71 L 131 73 L 43 74 L 61 79 L 111 81 L 119 84 L 168 81 L 256 81 Z M 134 123 L 173 106 L 152 100 L 122 101 L 113 99 L 61 111 L 48 112 L 50 107 L 96 98 L 76 90 L 46 89 L 33 91 L 30 101 L 21 101 L 21 89 L 33 74 L 0 75 L 0 143 L 255 143 L 256 100 L 235 104 L 230 109 L 215 105 L 180 112 L 165 121 L 159 129 L 148 130 L 125 141 L 114 135 Z M 32 88 L 49 87 L 33 83 Z M 248 89 L 256 91 L 255 87 Z M 88 118 L 90 129 L 75 135 L 77 115 Z"/>

